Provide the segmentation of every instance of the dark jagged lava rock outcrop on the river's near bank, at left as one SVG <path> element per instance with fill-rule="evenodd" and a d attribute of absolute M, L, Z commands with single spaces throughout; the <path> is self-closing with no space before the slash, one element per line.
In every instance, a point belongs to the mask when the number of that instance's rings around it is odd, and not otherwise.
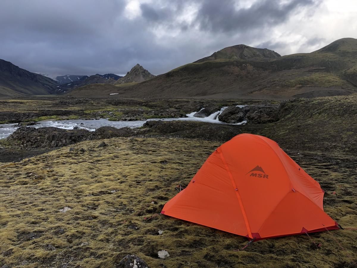
<path fill-rule="evenodd" d="M 7 140 L 20 143 L 23 149 L 57 148 L 88 139 L 86 129 L 66 130 L 54 127 L 31 128 L 22 126 L 16 129 Z"/>

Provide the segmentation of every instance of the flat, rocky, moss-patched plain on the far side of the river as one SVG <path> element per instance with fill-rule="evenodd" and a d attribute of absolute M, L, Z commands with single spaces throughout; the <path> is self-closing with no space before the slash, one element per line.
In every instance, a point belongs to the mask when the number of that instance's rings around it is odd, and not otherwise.
<path fill-rule="evenodd" d="M 0 100 L 0 123 L 24 123 L 46 119 L 146 120 L 178 118 L 204 107 L 233 104 L 266 104 L 259 100 L 138 100 L 96 98 L 29 98 Z"/>

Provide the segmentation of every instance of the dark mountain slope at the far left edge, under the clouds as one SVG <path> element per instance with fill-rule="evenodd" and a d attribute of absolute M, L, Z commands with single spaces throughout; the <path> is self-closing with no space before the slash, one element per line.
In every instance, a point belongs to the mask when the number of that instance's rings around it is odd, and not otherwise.
<path fill-rule="evenodd" d="M 54 93 L 57 82 L 46 76 L 31 73 L 0 59 L 0 95 L 47 95 Z"/>

